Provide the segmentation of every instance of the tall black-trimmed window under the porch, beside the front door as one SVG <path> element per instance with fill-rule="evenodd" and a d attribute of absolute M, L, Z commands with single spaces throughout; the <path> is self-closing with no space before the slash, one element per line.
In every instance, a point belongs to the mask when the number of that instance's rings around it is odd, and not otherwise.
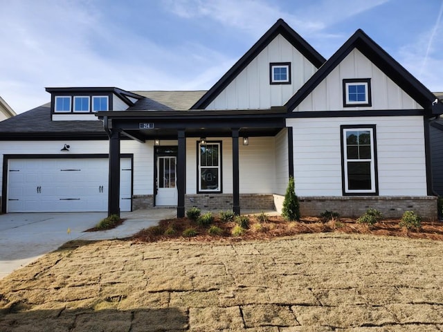
<path fill-rule="evenodd" d="M 198 149 L 199 192 L 221 192 L 221 142 L 198 144 Z"/>

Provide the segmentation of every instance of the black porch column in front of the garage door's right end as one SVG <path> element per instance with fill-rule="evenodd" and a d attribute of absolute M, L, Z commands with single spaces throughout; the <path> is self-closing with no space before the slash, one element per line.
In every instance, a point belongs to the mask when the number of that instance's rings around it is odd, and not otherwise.
<path fill-rule="evenodd" d="M 111 129 L 109 132 L 109 188 L 108 216 L 120 216 L 120 132 Z"/>

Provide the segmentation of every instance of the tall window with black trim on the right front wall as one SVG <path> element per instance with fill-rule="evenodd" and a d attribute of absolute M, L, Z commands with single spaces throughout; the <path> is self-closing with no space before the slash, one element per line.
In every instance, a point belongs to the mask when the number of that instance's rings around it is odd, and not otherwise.
<path fill-rule="evenodd" d="M 343 194 L 378 194 L 375 126 L 341 126 Z"/>

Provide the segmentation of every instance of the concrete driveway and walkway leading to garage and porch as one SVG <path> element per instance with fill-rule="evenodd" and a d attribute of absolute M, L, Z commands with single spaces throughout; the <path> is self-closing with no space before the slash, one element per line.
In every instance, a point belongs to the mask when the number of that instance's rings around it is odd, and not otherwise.
<path fill-rule="evenodd" d="M 123 212 L 125 223 L 113 230 L 84 232 L 107 216 L 106 212 L 11 213 L 0 215 L 0 279 L 21 266 L 75 239 L 102 240 L 129 237 L 161 219 L 177 215 L 175 209 Z"/>

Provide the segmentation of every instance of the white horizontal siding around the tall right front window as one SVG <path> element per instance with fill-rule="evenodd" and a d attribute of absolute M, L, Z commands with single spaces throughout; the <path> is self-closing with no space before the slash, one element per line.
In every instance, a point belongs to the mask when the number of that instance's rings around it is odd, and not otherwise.
<path fill-rule="evenodd" d="M 420 116 L 287 119 L 293 127 L 294 177 L 300 196 L 341 196 L 341 124 L 375 124 L 380 196 L 426 196 Z"/>

